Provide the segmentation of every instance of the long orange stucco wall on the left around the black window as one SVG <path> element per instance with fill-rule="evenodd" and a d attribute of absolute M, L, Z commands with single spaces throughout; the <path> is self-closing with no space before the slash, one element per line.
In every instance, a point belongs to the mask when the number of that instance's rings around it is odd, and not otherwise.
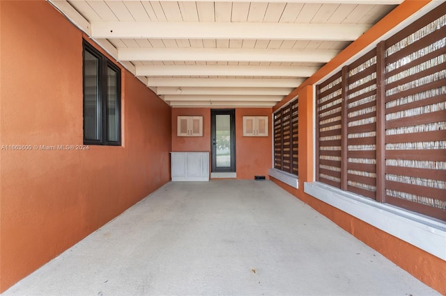
<path fill-rule="evenodd" d="M 169 181 L 171 108 L 122 70 L 122 147 L 82 145 L 82 33 L 1 1 L 0 292 Z"/>

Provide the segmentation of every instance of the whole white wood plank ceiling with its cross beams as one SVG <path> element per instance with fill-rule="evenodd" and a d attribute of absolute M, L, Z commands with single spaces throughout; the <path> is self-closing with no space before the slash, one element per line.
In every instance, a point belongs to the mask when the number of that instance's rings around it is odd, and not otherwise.
<path fill-rule="evenodd" d="M 274 106 L 402 0 L 49 0 L 171 106 Z"/>

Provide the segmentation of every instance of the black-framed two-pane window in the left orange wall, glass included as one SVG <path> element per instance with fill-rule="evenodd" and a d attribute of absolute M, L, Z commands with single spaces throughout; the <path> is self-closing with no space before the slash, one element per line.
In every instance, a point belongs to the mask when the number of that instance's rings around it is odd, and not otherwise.
<path fill-rule="evenodd" d="M 84 144 L 121 145 L 121 69 L 84 40 Z"/>

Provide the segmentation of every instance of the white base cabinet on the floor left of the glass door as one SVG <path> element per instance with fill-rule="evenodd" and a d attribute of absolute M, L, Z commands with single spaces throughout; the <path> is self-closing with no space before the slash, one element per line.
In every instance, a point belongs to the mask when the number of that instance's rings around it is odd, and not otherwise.
<path fill-rule="evenodd" d="M 209 181 L 209 152 L 171 152 L 172 181 Z"/>

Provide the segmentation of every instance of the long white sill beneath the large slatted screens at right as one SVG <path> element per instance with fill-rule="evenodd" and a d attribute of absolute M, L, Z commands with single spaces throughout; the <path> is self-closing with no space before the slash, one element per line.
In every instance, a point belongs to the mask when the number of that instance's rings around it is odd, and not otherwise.
<path fill-rule="evenodd" d="M 415 247 L 446 260 L 446 223 L 382 204 L 320 182 L 305 183 L 305 193 L 339 208 Z"/>

